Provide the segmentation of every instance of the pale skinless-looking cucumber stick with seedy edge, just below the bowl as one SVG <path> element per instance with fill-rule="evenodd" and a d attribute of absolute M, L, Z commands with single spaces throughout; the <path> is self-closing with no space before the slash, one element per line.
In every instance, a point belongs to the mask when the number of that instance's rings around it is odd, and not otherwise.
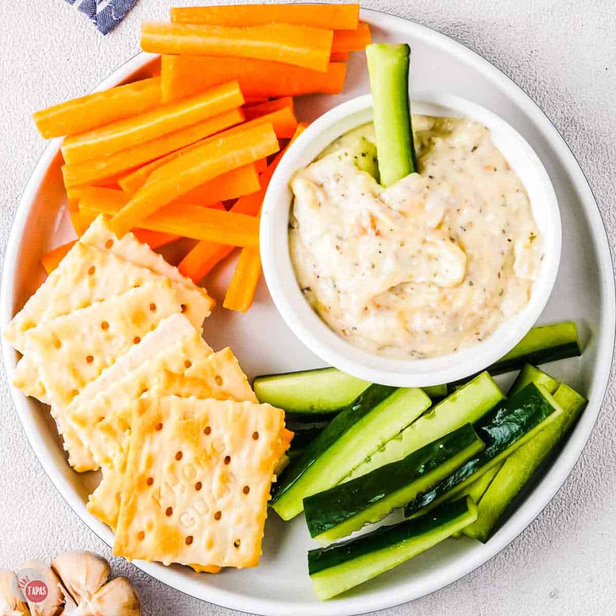
<path fill-rule="evenodd" d="M 402 460 L 409 453 L 431 443 L 464 424 L 474 424 L 505 396 L 487 372 L 457 389 L 429 409 L 394 439 L 377 450 L 345 479 L 355 479 L 379 466 Z"/>

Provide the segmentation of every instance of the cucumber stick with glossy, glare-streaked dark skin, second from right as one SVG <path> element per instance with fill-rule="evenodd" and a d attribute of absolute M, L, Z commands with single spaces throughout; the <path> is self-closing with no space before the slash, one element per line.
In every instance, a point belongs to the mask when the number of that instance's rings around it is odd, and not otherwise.
<path fill-rule="evenodd" d="M 534 383 L 529 383 L 514 397 L 505 400 L 474 424 L 475 431 L 485 443 L 484 450 L 473 460 L 468 461 L 447 479 L 418 496 L 404 508 L 405 516 L 413 516 L 419 511 L 432 508 L 443 500 L 453 498 L 474 479 L 479 472 L 485 472 L 498 463 L 503 456 L 524 444 L 525 437 L 534 434 L 535 429 L 550 416 L 556 419 L 559 413 L 557 403 L 549 400 L 547 391 L 540 391 Z M 548 422 L 545 422 L 544 428 Z"/>

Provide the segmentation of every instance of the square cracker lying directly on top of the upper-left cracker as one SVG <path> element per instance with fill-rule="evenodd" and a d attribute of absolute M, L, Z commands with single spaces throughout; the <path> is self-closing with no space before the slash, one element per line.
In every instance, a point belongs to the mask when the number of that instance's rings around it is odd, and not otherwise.
<path fill-rule="evenodd" d="M 26 333 L 26 355 L 36 374 L 20 376 L 26 382 L 40 377 L 71 466 L 91 464 L 90 453 L 65 422 L 71 400 L 161 320 L 181 310 L 171 281 L 163 278 Z"/>

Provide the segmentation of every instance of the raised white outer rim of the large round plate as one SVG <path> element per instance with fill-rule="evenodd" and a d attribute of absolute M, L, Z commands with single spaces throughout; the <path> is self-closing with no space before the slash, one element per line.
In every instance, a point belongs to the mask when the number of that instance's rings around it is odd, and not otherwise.
<path fill-rule="evenodd" d="M 229 609 L 240 610 L 243 612 L 259 613 L 270 616 L 287 616 L 289 610 L 293 610 L 294 616 L 301 616 L 302 614 L 310 616 L 352 616 L 355 614 L 366 614 L 380 609 L 387 609 L 394 607 L 414 599 L 421 598 L 427 594 L 431 594 L 451 583 L 459 580 L 460 578 L 468 575 L 473 570 L 477 569 L 480 565 L 488 562 L 492 557 L 496 556 L 502 549 L 511 543 L 521 532 L 523 532 L 527 526 L 543 511 L 543 509 L 553 499 L 556 492 L 562 487 L 565 480 L 570 475 L 570 472 L 577 463 L 578 459 L 582 455 L 583 450 L 586 447 L 590 434 L 596 424 L 596 421 L 601 411 L 602 403 L 607 391 L 607 384 L 609 383 L 610 368 L 614 359 L 614 341 L 616 338 L 616 295 L 614 293 L 614 265 L 612 261 L 612 251 L 607 238 L 607 230 L 605 222 L 602 219 L 601 211 L 599 209 L 596 198 L 594 197 L 593 190 L 586 178 L 586 175 L 578 163 L 575 155 L 573 155 L 567 142 L 564 140 L 560 132 L 556 129 L 556 126 L 552 123 L 549 117 L 543 110 L 535 103 L 529 95 L 527 95 L 521 87 L 519 87 L 513 79 L 503 73 L 500 68 L 496 67 L 492 63 L 488 62 L 482 55 L 473 51 L 469 47 L 466 47 L 463 43 L 455 41 L 447 36 L 447 34 L 441 33 L 431 26 L 427 26 L 414 20 L 398 17 L 387 12 L 375 10 L 375 9 L 362 9 L 362 16 L 367 17 L 368 21 L 375 23 L 375 25 L 383 26 L 387 29 L 388 24 L 402 23 L 403 27 L 410 27 L 415 29 L 416 36 L 428 41 L 428 43 L 434 43 L 445 49 L 445 51 L 453 54 L 459 54 L 466 60 L 469 65 L 477 68 L 482 73 L 488 73 L 496 84 L 507 92 L 509 97 L 513 98 L 521 108 L 538 124 L 545 126 L 546 139 L 548 139 L 550 145 L 559 153 L 559 162 L 567 171 L 567 174 L 572 180 L 574 180 L 575 187 L 583 195 L 582 201 L 586 203 L 589 199 L 594 203 L 594 209 L 589 206 L 585 208 L 588 212 L 589 227 L 593 235 L 593 240 L 596 242 L 596 247 L 599 257 L 599 265 L 601 266 L 601 290 L 604 292 L 602 297 L 602 310 L 606 314 L 606 322 L 610 323 L 610 333 L 608 343 L 605 339 L 599 342 L 600 347 L 597 354 L 598 364 L 598 381 L 594 385 L 593 389 L 598 389 L 598 397 L 593 399 L 592 406 L 594 413 L 588 414 L 582 417 L 577 424 L 575 430 L 571 434 L 567 444 L 559 453 L 558 464 L 554 464 L 551 469 L 545 474 L 541 482 L 537 485 L 537 488 L 541 488 L 543 497 L 540 499 L 539 505 L 534 501 L 527 500 L 524 505 L 516 512 L 514 516 L 496 533 L 496 537 L 500 537 L 500 541 L 492 541 L 490 544 L 485 544 L 484 548 L 476 551 L 474 557 L 468 557 L 465 559 L 464 564 L 456 563 L 454 565 L 448 565 L 444 571 L 441 571 L 439 575 L 435 576 L 438 580 L 432 581 L 431 585 L 426 585 L 420 591 L 413 590 L 411 588 L 408 591 L 408 585 L 397 588 L 397 592 L 391 593 L 391 590 L 383 589 L 374 593 L 370 597 L 362 596 L 359 594 L 351 598 L 334 599 L 329 602 L 318 602 L 316 599 L 314 602 L 306 603 L 293 603 L 282 602 L 269 599 L 257 599 L 249 598 L 244 595 L 238 595 L 231 591 L 227 591 L 220 588 L 214 588 L 207 584 L 203 584 L 202 580 L 193 582 L 187 580 L 183 573 L 180 573 L 176 569 L 170 567 L 164 567 L 161 564 L 136 562 L 137 567 L 144 572 L 151 575 L 156 580 L 171 586 L 175 590 L 182 593 L 193 596 L 203 601 L 208 601 L 219 606 L 224 606 Z M 99 86 L 94 91 L 111 87 L 118 83 L 121 83 L 124 79 L 129 78 L 135 73 L 142 65 L 148 62 L 148 60 L 156 57 L 155 54 L 145 54 L 141 52 L 132 59 L 127 60 L 123 65 L 118 67 L 111 74 L 103 79 Z M 14 303 L 14 289 L 12 282 L 14 280 L 16 269 L 14 264 L 17 260 L 17 255 L 20 249 L 21 238 L 23 230 L 25 229 L 26 222 L 30 216 L 30 204 L 36 193 L 39 190 L 41 181 L 44 177 L 46 170 L 49 168 L 54 157 L 59 150 L 61 139 L 52 140 L 43 152 L 38 163 L 34 167 L 25 190 L 22 193 L 17 211 L 15 213 L 14 221 L 12 222 L 9 239 L 6 245 L 6 251 L 4 254 L 4 261 L 2 264 L 2 283 L 0 286 L 0 324 L 6 325 L 12 318 L 12 306 Z M 606 255 L 607 258 L 606 259 Z M 607 347 L 607 349 L 606 349 Z M 611 349 L 611 351 L 610 351 Z M 7 376 L 10 375 L 15 365 L 15 352 L 9 344 L 2 340 L 2 356 L 4 359 L 5 369 Z M 9 368 L 10 367 L 10 368 Z M 9 381 L 9 379 L 7 379 Z M 110 545 L 111 531 L 107 529 L 102 522 L 94 519 L 91 514 L 87 513 L 83 500 L 76 494 L 74 488 L 71 486 L 67 479 L 67 474 L 71 473 L 71 469 L 59 469 L 53 463 L 52 458 L 46 455 L 47 446 L 43 442 L 40 434 L 34 429 L 33 420 L 28 418 L 28 403 L 25 397 L 18 392 L 15 387 L 10 384 L 9 389 L 12 395 L 15 409 L 17 410 L 18 418 L 22 423 L 23 429 L 26 432 L 28 443 L 33 449 L 34 454 L 38 458 L 39 463 L 43 466 L 44 471 L 51 479 L 52 484 L 58 490 L 62 498 L 77 514 L 79 519 L 87 525 L 101 540 L 105 541 L 107 545 Z M 599 400 L 600 398 L 600 400 Z M 584 419 L 586 418 L 586 421 Z M 575 447 L 574 447 L 575 445 Z M 68 471 L 68 472 L 67 472 Z M 524 514 L 524 515 L 522 515 Z M 515 524 L 514 524 L 515 522 Z M 405 592 L 406 590 L 406 592 Z"/>

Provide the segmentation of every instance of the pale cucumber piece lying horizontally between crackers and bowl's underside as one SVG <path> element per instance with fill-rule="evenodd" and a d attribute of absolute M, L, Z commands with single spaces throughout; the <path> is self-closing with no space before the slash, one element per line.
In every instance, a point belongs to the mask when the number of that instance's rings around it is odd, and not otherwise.
<path fill-rule="evenodd" d="M 267 402 L 289 413 L 320 415 L 338 413 L 370 383 L 336 368 L 317 368 L 257 376 L 253 386 L 261 403 Z"/>

